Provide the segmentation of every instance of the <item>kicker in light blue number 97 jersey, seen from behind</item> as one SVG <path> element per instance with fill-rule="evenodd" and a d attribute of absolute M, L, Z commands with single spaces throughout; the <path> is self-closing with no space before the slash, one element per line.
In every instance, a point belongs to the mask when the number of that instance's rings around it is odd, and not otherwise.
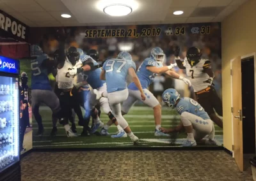
<path fill-rule="evenodd" d="M 106 60 L 102 67 L 100 79 L 106 80 L 107 92 L 102 92 L 100 94 L 100 92 L 96 89 L 94 89 L 94 92 L 97 95 L 96 99 L 100 99 L 101 97 L 108 97 L 109 105 L 113 115 L 115 115 L 118 121 L 118 124 L 120 124 L 125 133 L 128 134 L 132 142 L 137 144 L 139 138 L 132 133 L 127 121 L 124 119 L 121 112 L 121 103 L 128 97 L 126 83 L 126 78 L 128 75 L 131 75 L 135 85 L 138 87 L 141 100 L 145 100 L 145 94 L 141 87 L 140 80 L 135 73 L 135 69 L 136 66 L 132 61 L 131 55 L 128 52 L 120 52 L 116 59 Z"/>

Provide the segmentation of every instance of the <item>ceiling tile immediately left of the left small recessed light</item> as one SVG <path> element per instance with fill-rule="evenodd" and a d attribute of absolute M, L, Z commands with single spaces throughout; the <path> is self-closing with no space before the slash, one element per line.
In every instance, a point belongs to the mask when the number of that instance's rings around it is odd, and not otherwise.
<path fill-rule="evenodd" d="M 25 12 L 25 13 L 22 13 L 22 15 L 24 15 L 24 17 L 28 18 L 32 22 L 44 22 L 44 21 L 55 20 L 47 12 Z"/>

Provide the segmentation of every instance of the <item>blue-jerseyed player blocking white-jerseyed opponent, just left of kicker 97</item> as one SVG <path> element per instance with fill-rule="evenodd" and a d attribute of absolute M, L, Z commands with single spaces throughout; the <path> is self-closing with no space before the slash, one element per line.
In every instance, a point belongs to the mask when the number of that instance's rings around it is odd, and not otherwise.
<path fill-rule="evenodd" d="M 92 59 L 89 55 L 83 54 L 80 56 L 80 61 L 82 63 L 81 68 L 72 69 L 70 70 L 70 75 L 76 75 L 77 73 L 82 73 L 83 75 L 87 76 L 86 82 L 92 87 L 92 89 L 97 89 L 100 92 L 106 91 L 106 83 L 104 80 L 100 80 L 100 73 L 102 69 L 100 68 L 99 64 Z M 86 120 L 89 122 L 90 115 L 92 115 L 94 120 L 94 125 L 92 127 L 92 130 L 90 133 L 95 133 L 97 129 L 102 127 L 100 134 L 107 136 L 109 135 L 108 129 L 111 124 L 115 124 L 118 129 L 118 136 L 119 137 L 127 137 L 127 134 L 125 133 L 124 129 L 122 129 L 121 126 L 118 125 L 118 122 L 116 122 L 116 118 L 114 117 L 113 113 L 111 112 L 111 108 L 109 107 L 108 99 L 102 98 L 99 100 L 100 105 L 102 106 L 103 111 L 108 114 L 109 122 L 104 125 L 103 122 L 100 121 L 99 116 L 95 115 L 95 105 L 97 105 L 96 95 L 93 93 L 93 91 L 90 91 L 87 94 L 87 98 L 90 100 L 89 106 L 90 106 L 90 114 L 86 114 Z"/>

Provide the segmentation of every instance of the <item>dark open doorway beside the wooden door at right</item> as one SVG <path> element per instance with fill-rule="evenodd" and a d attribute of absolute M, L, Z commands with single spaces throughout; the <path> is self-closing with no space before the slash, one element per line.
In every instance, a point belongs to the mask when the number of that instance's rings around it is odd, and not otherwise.
<path fill-rule="evenodd" d="M 241 62 L 243 106 L 243 152 L 255 156 L 255 89 L 254 57 Z"/>

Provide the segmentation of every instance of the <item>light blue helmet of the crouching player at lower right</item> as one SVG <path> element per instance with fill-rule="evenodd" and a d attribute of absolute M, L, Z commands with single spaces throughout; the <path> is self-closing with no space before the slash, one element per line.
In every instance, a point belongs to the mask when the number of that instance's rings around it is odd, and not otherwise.
<path fill-rule="evenodd" d="M 180 94 L 175 89 L 166 89 L 162 94 L 163 102 L 170 108 L 174 108 L 176 101 L 180 99 Z"/>

